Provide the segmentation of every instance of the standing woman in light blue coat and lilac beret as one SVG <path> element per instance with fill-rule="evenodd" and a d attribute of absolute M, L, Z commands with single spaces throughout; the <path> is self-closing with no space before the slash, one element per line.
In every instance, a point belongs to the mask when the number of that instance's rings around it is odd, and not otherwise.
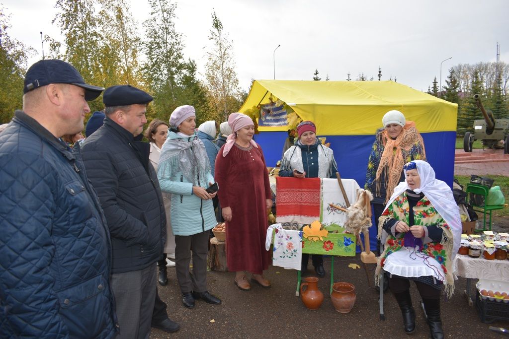
<path fill-rule="evenodd" d="M 207 152 L 198 138 L 194 107 L 173 111 L 161 150 L 157 176 L 163 192 L 172 193 L 171 219 L 175 261 L 182 303 L 192 309 L 195 299 L 211 304 L 221 300 L 207 291 L 209 231 L 216 225 L 212 198 L 206 188 L 214 182 Z M 192 251 L 192 276 L 189 263 Z"/>

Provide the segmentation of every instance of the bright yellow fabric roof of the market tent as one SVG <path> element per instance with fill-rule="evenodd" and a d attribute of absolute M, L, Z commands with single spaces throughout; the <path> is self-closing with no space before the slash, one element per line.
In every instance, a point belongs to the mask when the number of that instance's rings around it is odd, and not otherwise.
<path fill-rule="evenodd" d="M 269 103 L 269 97 L 312 120 L 320 135 L 366 135 L 382 127 L 383 115 L 397 109 L 421 133 L 456 131 L 458 105 L 394 81 L 255 80 L 240 112 Z M 286 131 L 287 126 L 259 127 Z"/>

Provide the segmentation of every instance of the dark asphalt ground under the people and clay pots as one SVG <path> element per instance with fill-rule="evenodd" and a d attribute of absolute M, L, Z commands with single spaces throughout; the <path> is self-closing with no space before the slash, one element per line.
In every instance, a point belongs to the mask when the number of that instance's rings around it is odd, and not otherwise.
<path fill-rule="evenodd" d="M 272 288 L 253 286 L 243 292 L 233 283 L 234 273 L 209 272 L 209 290 L 223 300 L 222 305 L 209 305 L 196 301 L 193 310 L 186 309 L 180 301 L 175 268 L 169 270 L 169 284 L 159 287 L 159 295 L 168 304 L 169 316 L 181 324 L 173 334 L 153 330 L 151 338 L 403 338 L 402 317 L 390 293 L 385 294 L 386 320 L 381 321 L 378 311 L 378 292 L 368 285 L 362 266 L 348 268 L 349 263 L 361 265 L 357 257 L 339 258 L 334 262 L 335 281 L 355 285 L 357 301 L 349 314 L 335 312 L 327 291 L 330 275 L 320 279 L 319 288 L 325 299 L 318 311 L 307 310 L 295 296 L 296 271 L 270 267 L 266 276 Z M 330 272 L 330 259 L 325 259 Z M 310 267 L 312 267 L 310 265 Z M 370 265 L 370 276 L 374 265 Z M 456 292 L 449 301 L 442 303 L 446 338 L 496 338 L 497 334 L 483 324 L 475 306 L 469 306 L 463 290 L 466 280 L 460 278 Z M 411 288 L 414 307 L 418 307 L 418 293 Z M 214 320 L 213 323 L 210 321 Z M 498 324 L 503 326 L 503 323 Z M 509 324 L 505 324 L 509 327 Z M 429 337 L 428 326 L 421 310 L 417 309 L 417 331 L 414 338 Z"/>

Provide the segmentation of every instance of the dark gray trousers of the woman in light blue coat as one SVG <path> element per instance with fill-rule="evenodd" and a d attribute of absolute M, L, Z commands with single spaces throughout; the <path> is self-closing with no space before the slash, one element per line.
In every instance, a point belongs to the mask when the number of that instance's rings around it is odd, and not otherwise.
<path fill-rule="evenodd" d="M 207 254 L 209 253 L 209 234 L 205 231 L 193 235 L 175 236 L 175 268 L 180 291 L 207 291 Z M 192 251 L 192 277 L 189 272 Z"/>

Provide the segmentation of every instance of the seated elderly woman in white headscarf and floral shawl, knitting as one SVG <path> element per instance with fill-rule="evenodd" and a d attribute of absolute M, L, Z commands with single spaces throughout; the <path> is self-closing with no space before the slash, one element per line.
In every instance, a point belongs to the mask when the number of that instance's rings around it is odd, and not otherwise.
<path fill-rule="evenodd" d="M 378 236 L 384 243 L 381 268 L 390 274 L 389 288 L 403 314 L 407 334 L 415 330 L 410 280 L 415 282 L 425 306 L 433 338 L 443 338 L 440 319 L 442 286 L 454 292 L 453 259 L 461 240 L 461 220 L 453 192 L 435 178 L 425 161 L 404 166 L 406 180 L 394 188 L 379 220 Z M 377 282 L 378 283 L 378 282 Z"/>

